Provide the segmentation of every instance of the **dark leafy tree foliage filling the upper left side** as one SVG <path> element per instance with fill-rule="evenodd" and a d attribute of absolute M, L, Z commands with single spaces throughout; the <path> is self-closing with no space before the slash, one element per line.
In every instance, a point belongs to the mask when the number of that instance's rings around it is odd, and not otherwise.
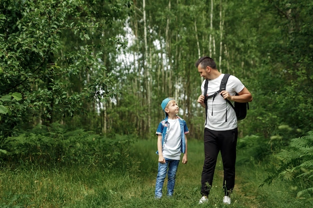
<path fill-rule="evenodd" d="M 104 62 L 122 43 L 114 42 L 117 35 L 108 27 L 120 22 L 125 14 L 117 11 L 129 6 L 128 0 L 0 1 L 0 97 L 22 95 L 9 105 L 0 101 L 0 135 L 16 135 L 23 122 L 26 129 L 62 119 L 70 124 L 73 115 L 84 117 L 96 102 L 111 97 L 115 92 Z M 122 30 L 120 25 L 115 26 Z M 103 55 L 101 48 L 110 49 Z"/>

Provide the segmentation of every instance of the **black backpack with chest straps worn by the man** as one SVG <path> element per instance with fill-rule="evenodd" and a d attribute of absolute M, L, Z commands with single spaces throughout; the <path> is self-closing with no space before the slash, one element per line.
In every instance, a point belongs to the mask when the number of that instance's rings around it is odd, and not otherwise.
<path fill-rule="evenodd" d="M 206 104 L 207 103 L 207 99 L 213 97 L 213 101 L 214 101 L 215 96 L 217 94 L 219 94 L 221 91 L 226 89 L 226 83 L 227 83 L 227 80 L 228 80 L 229 76 L 230 76 L 230 74 L 224 74 L 224 77 L 221 79 L 221 82 L 220 82 L 220 85 L 219 85 L 219 90 L 216 91 L 214 94 L 209 95 L 209 96 L 206 96 L 208 80 L 205 80 L 205 83 L 204 83 L 205 124 L 206 124 L 206 116 L 207 116 L 207 104 Z M 238 94 L 236 93 L 236 95 L 238 95 Z M 245 118 L 246 110 L 249 109 L 249 104 L 247 102 L 246 103 L 234 102 L 234 105 L 232 105 L 232 103 L 229 100 L 226 99 L 226 101 L 234 109 L 238 121 Z M 225 121 L 227 121 L 227 110 L 226 110 Z"/>

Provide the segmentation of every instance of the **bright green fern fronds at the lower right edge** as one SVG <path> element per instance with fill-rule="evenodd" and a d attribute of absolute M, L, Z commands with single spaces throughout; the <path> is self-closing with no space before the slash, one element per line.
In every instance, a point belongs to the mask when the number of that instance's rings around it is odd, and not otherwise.
<path fill-rule="evenodd" d="M 300 189 L 297 196 L 313 196 L 313 132 L 291 139 L 288 146 L 272 156 L 275 168 L 264 180 L 270 184 L 274 179 L 292 181 Z"/>

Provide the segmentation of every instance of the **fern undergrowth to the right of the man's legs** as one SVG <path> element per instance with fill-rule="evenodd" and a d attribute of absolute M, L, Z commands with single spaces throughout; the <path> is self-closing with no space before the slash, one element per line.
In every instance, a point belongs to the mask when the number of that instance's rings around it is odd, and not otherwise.
<path fill-rule="evenodd" d="M 266 188 L 270 189 L 277 183 L 286 184 L 292 199 L 305 200 L 313 205 L 313 132 L 289 139 L 286 146 L 280 147 L 280 151 L 270 151 L 271 145 L 272 141 L 267 143 L 257 136 L 240 139 L 238 147 L 241 154 L 237 158 L 237 165 L 252 164 L 254 168 L 262 168 L 265 175 L 258 188 L 267 185 Z"/>

